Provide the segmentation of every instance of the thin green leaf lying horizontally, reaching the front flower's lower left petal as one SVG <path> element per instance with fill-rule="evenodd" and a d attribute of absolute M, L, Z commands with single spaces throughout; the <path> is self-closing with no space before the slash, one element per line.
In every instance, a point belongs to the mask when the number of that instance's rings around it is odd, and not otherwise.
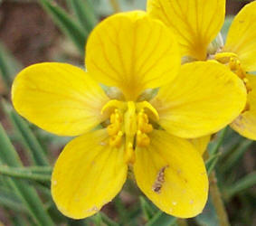
<path fill-rule="evenodd" d="M 9 167 L 6 165 L 0 165 L 0 174 L 8 175 L 20 179 L 29 179 L 38 182 L 50 182 L 51 174 L 36 174 L 32 171 L 22 169 L 20 167 Z"/>

